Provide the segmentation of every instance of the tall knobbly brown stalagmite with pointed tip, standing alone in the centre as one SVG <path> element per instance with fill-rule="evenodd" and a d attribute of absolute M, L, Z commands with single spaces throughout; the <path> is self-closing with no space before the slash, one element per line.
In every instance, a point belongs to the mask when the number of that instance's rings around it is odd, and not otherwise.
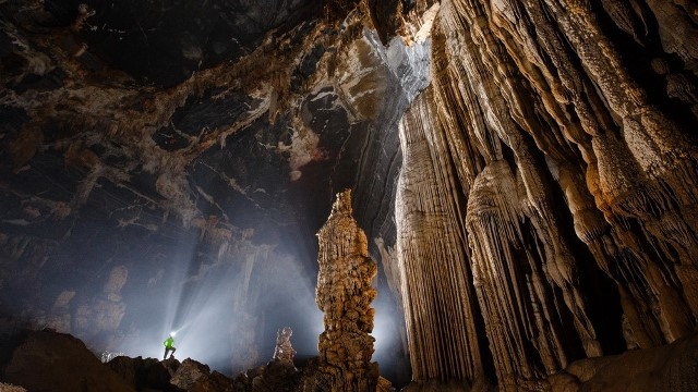
<path fill-rule="evenodd" d="M 315 391 L 375 391 L 378 364 L 371 363 L 376 296 L 371 281 L 377 267 L 366 236 L 352 217 L 351 191 L 337 194 L 327 222 L 317 233 L 320 250 L 315 302 L 325 314 L 320 335 L 322 381 Z"/>

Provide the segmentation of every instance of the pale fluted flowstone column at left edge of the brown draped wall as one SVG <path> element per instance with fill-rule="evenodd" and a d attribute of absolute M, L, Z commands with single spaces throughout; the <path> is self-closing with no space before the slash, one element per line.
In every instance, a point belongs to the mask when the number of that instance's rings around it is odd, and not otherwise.
<path fill-rule="evenodd" d="M 397 191 L 397 253 L 401 264 L 412 378 L 468 380 L 482 376 L 467 254 L 458 229 L 450 163 L 438 162 L 429 138 L 429 91 L 400 125 L 404 167 Z"/>

